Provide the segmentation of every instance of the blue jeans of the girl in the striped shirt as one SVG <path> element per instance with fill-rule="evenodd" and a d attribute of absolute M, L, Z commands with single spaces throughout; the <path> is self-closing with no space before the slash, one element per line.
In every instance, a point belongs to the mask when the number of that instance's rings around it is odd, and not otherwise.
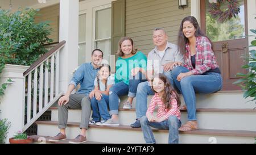
<path fill-rule="evenodd" d="M 144 140 L 146 143 L 156 143 L 155 137 L 153 135 L 152 129 L 154 127 L 157 129 L 169 129 L 169 144 L 178 144 L 179 143 L 179 128 L 181 126 L 181 122 L 177 119 L 176 116 L 171 115 L 168 119 L 163 122 L 149 122 L 147 116 L 143 116 L 141 118 L 141 128 L 144 135 Z"/>

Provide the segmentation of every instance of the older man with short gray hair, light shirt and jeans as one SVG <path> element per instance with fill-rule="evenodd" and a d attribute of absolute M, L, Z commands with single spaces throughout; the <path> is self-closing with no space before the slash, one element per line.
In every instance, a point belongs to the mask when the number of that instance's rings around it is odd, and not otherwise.
<path fill-rule="evenodd" d="M 152 36 L 155 48 L 147 56 L 147 81 L 139 83 L 136 96 L 136 121 L 131 124 L 132 128 L 140 128 L 140 119 L 146 115 L 147 96 L 154 95 L 150 82 L 154 74 L 163 73 L 173 85 L 171 66 L 175 61 L 184 62 L 183 56 L 177 49 L 177 45 L 168 42 L 168 36 L 163 28 L 155 28 Z"/>

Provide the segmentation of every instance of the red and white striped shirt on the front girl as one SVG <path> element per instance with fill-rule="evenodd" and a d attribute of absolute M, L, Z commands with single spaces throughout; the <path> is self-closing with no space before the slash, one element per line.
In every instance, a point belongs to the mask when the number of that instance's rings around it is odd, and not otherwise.
<path fill-rule="evenodd" d="M 156 114 L 157 118 L 166 118 L 168 119 L 169 116 L 171 115 L 175 115 L 177 117 L 177 119 L 180 120 L 180 109 L 177 106 L 177 100 L 175 98 L 171 98 L 171 108 L 169 110 L 167 110 L 164 107 L 164 103 L 161 100 L 161 98 L 159 97 L 158 93 L 155 93 L 155 95 L 152 97 L 150 104 L 148 105 L 147 108 L 147 113 L 149 112 L 151 115 L 153 114 L 154 110 L 155 110 L 155 106 L 158 105 L 158 113 Z"/>

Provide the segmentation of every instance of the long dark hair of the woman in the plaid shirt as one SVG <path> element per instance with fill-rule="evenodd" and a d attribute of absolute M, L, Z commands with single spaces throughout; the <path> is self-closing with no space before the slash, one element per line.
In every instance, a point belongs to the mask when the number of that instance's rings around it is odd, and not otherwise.
<path fill-rule="evenodd" d="M 197 36 L 205 36 L 204 32 L 201 31 L 200 26 L 199 26 L 195 17 L 193 17 L 193 16 L 185 17 L 181 21 L 180 28 L 179 28 L 179 33 L 178 33 L 178 39 L 177 39 L 177 47 L 178 47 L 180 53 L 183 56 L 185 56 L 185 53 L 186 53 L 185 45 L 189 42 L 188 38 L 185 37 L 184 34 L 183 34 L 183 23 L 186 22 L 186 21 L 191 22 L 193 24 L 193 26 L 195 27 L 195 29 L 196 29 L 195 36 L 196 37 Z M 205 36 L 205 37 L 207 37 L 207 36 Z M 208 40 L 210 41 L 209 38 L 208 38 Z M 212 44 L 212 41 L 210 41 L 210 44 Z M 213 44 L 212 44 L 212 49 L 213 49 Z"/>

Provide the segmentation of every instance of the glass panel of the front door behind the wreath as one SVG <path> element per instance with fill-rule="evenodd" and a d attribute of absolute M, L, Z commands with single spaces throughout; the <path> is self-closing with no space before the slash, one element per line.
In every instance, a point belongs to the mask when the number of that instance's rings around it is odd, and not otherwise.
<path fill-rule="evenodd" d="M 206 33 L 212 41 L 234 40 L 245 38 L 245 5 L 243 0 L 238 0 L 240 13 L 236 18 L 231 18 L 224 23 L 217 22 L 209 14 L 209 1 L 205 1 Z M 226 2 L 228 3 L 228 2 Z M 228 5 L 222 4 L 221 10 L 228 9 Z"/>

